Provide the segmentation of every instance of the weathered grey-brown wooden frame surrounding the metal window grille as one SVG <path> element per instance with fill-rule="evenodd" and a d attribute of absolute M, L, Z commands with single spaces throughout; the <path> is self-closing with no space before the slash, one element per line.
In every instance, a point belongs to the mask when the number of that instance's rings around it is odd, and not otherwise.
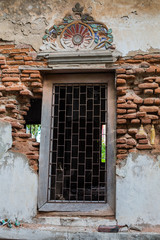
<path fill-rule="evenodd" d="M 76 74 L 76 73 L 75 73 Z M 85 74 L 85 73 L 84 73 Z M 106 216 L 115 215 L 115 162 L 116 162 L 116 91 L 115 91 L 115 76 L 114 72 L 103 72 L 106 78 L 94 79 L 94 73 L 92 74 L 92 80 L 87 83 L 107 83 L 108 84 L 108 126 L 107 126 L 107 204 L 105 209 L 103 206 L 98 206 L 100 212 L 105 211 Z M 97 72 L 98 74 L 98 72 Z M 72 79 L 72 77 L 73 79 Z M 91 75 L 90 75 L 91 76 Z M 50 126 L 51 126 L 51 99 L 52 99 L 52 85 L 55 83 L 75 83 L 74 74 L 46 74 L 44 76 L 43 85 L 43 100 L 42 100 L 42 123 L 41 123 L 41 144 L 40 144 L 40 159 L 39 159 L 39 189 L 38 189 L 38 209 L 39 211 L 63 211 L 62 203 L 48 202 L 48 167 L 49 167 L 49 146 L 50 146 Z M 86 83 L 86 81 L 77 81 L 76 83 Z M 68 211 L 80 211 L 82 205 L 71 203 L 65 203 L 68 205 Z M 90 212 L 95 210 L 95 206 L 92 204 L 86 204 L 86 208 L 83 207 L 84 212 Z M 95 205 L 95 204 L 93 204 Z M 104 205 L 104 204 L 103 204 Z M 76 207 L 78 206 L 78 208 Z M 83 205 L 84 206 L 84 205 Z M 66 209 L 66 207 L 65 207 Z M 66 211 L 66 210 L 64 210 Z M 95 213 L 97 214 L 97 213 Z"/>

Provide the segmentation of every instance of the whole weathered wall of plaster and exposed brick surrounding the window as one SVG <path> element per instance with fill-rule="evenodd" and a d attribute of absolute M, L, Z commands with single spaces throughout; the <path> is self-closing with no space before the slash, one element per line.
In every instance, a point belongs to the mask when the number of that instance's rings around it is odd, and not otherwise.
<path fill-rule="evenodd" d="M 0 1 L 0 118 L 12 125 L 14 151 L 8 151 L 11 126 L 1 123 L 1 217 L 28 220 L 36 214 L 37 175 L 29 165 L 38 170 L 39 152 L 26 134 L 24 116 L 30 98 L 42 98 L 39 67 L 47 63 L 36 55 L 45 29 L 61 22 L 76 2 Z M 159 224 L 160 2 L 82 0 L 81 5 L 112 28 L 123 56 L 112 65 L 117 84 L 117 219 L 122 224 Z"/>

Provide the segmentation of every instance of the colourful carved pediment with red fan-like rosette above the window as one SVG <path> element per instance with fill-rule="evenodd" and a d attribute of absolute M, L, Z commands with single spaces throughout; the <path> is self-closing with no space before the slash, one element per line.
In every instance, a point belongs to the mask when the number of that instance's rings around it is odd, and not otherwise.
<path fill-rule="evenodd" d="M 96 22 L 89 14 L 83 14 L 79 3 L 72 8 L 73 14 L 67 15 L 58 25 L 45 31 L 40 50 L 51 51 L 85 51 L 107 50 L 113 48 L 112 29 Z"/>

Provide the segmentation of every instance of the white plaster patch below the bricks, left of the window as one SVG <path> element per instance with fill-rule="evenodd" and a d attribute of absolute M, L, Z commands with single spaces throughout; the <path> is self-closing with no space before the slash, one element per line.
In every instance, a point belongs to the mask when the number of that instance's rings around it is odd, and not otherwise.
<path fill-rule="evenodd" d="M 11 125 L 0 121 L 0 215 L 30 221 L 37 211 L 37 175 L 27 158 L 8 149 L 12 145 Z"/>

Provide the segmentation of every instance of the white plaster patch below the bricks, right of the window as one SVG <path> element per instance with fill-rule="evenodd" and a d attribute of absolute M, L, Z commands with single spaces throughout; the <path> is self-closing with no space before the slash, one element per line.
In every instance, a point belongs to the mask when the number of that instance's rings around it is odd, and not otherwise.
<path fill-rule="evenodd" d="M 119 224 L 160 224 L 160 165 L 147 155 L 129 155 L 117 167 L 116 218 Z"/>

